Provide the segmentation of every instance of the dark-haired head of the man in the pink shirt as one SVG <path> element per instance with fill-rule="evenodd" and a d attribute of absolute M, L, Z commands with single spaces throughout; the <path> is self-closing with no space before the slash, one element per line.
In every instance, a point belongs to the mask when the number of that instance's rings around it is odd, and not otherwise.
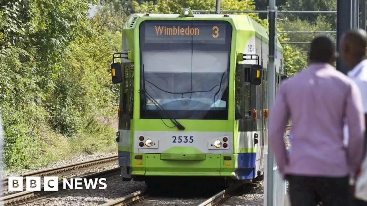
<path fill-rule="evenodd" d="M 329 63 L 332 64 L 335 59 L 335 44 L 327 36 L 315 37 L 310 46 L 308 54 L 310 63 Z"/>

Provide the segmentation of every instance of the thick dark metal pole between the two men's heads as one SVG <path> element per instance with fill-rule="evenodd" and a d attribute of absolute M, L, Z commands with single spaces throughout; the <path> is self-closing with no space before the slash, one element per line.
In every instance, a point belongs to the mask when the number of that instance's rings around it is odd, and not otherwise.
<path fill-rule="evenodd" d="M 337 49 L 340 52 L 340 37 L 342 33 L 351 28 L 351 2 L 350 0 L 337 0 Z M 347 68 L 341 58 L 337 60 L 337 70 L 347 73 Z"/>

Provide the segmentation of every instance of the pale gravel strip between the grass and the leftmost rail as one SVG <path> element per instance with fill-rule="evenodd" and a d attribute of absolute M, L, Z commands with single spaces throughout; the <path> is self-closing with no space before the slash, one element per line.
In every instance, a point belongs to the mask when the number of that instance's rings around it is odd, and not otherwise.
<path fill-rule="evenodd" d="M 97 158 L 101 158 L 101 157 L 107 157 L 107 156 L 111 156 L 111 155 L 116 155 L 117 152 L 113 152 L 113 153 L 95 153 L 95 154 L 83 154 L 83 155 L 78 155 L 76 157 L 74 157 L 73 159 L 70 160 L 63 160 L 63 161 L 58 161 L 55 162 L 51 165 L 48 165 L 47 167 L 41 167 L 41 168 L 34 168 L 34 169 L 22 169 L 22 170 L 18 170 L 18 171 L 3 171 L 2 174 L 0 174 L 0 177 L 8 177 L 8 176 L 14 176 L 17 174 L 23 174 L 23 173 L 28 173 L 28 172 L 34 172 L 37 170 L 41 170 L 41 169 L 47 169 L 47 168 L 53 168 L 53 167 L 57 167 L 57 166 L 63 166 L 63 165 L 68 165 L 68 164 L 72 164 L 75 162 L 81 162 L 81 161 L 87 161 L 87 160 L 91 160 L 91 159 L 97 159 Z"/>

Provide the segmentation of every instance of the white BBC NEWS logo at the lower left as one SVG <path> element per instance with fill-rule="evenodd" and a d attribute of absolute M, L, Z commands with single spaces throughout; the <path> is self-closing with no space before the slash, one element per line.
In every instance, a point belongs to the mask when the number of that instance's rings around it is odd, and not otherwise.
<path fill-rule="evenodd" d="M 63 179 L 63 190 L 82 190 L 83 184 L 87 190 L 95 190 L 98 185 L 99 190 L 105 190 L 106 178 L 71 178 Z M 98 184 L 99 183 L 99 184 Z M 41 191 L 41 177 L 26 177 L 26 191 Z M 59 191 L 59 177 L 43 177 L 44 191 Z M 23 191 L 23 177 L 9 177 L 8 191 Z"/>

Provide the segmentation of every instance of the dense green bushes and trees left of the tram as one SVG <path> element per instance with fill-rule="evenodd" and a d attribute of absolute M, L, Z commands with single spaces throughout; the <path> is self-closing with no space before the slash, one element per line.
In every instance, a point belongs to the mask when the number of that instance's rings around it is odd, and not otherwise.
<path fill-rule="evenodd" d="M 108 69 L 111 54 L 121 49 L 121 33 L 105 32 L 88 20 L 88 3 L 14 0 L 0 6 L 0 108 L 7 168 L 42 165 L 64 151 L 83 152 L 92 143 L 94 149 L 87 150 L 95 151 L 113 143 L 114 132 L 101 126 L 99 118 L 116 118 L 117 88 Z M 45 143 L 46 134 L 52 141 Z M 79 149 L 55 146 L 73 141 L 80 143 L 74 144 Z"/>

